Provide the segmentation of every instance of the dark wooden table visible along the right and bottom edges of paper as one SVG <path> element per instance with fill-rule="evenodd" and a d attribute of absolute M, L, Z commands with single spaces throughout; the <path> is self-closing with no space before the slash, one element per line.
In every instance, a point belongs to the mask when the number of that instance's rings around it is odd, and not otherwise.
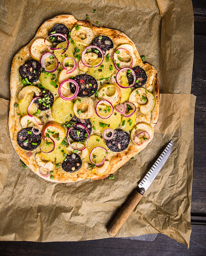
<path fill-rule="evenodd" d="M 154 242 L 108 238 L 84 242 L 0 242 L 3 255 L 206 255 L 206 0 L 193 0 L 194 65 L 192 94 L 197 96 L 194 116 L 192 235 L 186 245 L 157 234 Z M 1 217 L 0 217 L 1 218 Z"/>

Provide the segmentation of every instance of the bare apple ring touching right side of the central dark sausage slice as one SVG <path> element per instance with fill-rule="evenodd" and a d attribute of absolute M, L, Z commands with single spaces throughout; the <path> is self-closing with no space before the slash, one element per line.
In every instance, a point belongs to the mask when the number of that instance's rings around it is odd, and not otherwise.
<path fill-rule="evenodd" d="M 108 100 L 113 106 L 120 103 L 122 93 L 117 84 L 104 85 L 98 93 L 98 100 Z"/>

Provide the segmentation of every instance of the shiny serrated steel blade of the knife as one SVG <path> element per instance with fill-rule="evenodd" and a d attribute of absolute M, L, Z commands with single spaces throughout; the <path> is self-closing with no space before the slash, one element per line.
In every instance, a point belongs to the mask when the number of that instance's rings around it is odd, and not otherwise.
<path fill-rule="evenodd" d="M 161 155 L 157 158 L 156 162 L 150 168 L 149 172 L 145 175 L 145 177 L 141 180 L 138 187 L 144 188 L 144 190 L 148 190 L 151 183 L 155 180 L 157 174 L 160 172 L 163 165 L 165 165 L 168 157 L 172 152 L 173 141 L 171 140 L 166 146 L 165 150 L 161 153 Z"/>

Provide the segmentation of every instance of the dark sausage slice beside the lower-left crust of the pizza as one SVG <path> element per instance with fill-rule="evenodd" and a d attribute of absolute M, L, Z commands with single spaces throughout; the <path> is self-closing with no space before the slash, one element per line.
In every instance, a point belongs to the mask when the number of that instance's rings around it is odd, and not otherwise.
<path fill-rule="evenodd" d="M 35 135 L 31 130 L 32 127 L 25 128 L 20 131 L 17 136 L 17 143 L 24 150 L 34 150 L 36 147 L 39 147 L 41 143 L 41 133 Z"/>

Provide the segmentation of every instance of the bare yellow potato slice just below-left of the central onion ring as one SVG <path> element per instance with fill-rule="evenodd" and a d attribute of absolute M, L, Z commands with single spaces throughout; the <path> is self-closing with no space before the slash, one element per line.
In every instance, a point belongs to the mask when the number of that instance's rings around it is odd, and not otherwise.
<path fill-rule="evenodd" d="M 60 97 L 55 100 L 51 110 L 54 120 L 61 124 L 69 122 L 75 115 L 73 112 L 73 102 L 71 100 L 63 100 Z"/>

